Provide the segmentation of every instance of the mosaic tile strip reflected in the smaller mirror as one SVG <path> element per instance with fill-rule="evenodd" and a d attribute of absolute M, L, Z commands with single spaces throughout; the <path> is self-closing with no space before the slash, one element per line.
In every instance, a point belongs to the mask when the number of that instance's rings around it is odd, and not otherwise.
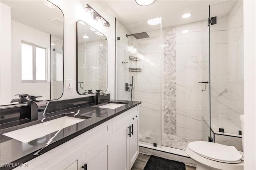
<path fill-rule="evenodd" d="M 107 41 L 101 40 L 99 42 L 99 89 L 107 90 Z"/>

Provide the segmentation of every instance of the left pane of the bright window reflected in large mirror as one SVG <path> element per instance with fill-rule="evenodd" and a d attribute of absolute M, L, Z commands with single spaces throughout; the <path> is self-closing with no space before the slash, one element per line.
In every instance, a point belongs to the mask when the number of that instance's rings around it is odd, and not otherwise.
<path fill-rule="evenodd" d="M 21 44 L 21 79 L 33 80 L 33 46 Z"/>

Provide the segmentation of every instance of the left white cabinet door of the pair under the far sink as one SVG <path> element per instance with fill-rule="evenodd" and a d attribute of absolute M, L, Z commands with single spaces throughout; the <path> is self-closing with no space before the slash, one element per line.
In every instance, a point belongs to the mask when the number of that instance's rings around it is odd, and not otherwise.
<path fill-rule="evenodd" d="M 128 170 L 128 127 L 126 122 L 108 137 L 108 170 Z"/>

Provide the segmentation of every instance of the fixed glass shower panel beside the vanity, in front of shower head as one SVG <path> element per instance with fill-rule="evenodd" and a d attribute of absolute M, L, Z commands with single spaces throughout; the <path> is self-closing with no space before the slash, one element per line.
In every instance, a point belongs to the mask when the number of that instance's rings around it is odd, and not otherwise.
<path fill-rule="evenodd" d="M 156 143 L 159 147 L 162 145 L 161 24 L 148 25 L 147 21 L 141 21 L 122 25 L 117 21 L 116 25 L 119 39 L 116 99 L 142 102 L 140 142 Z"/>

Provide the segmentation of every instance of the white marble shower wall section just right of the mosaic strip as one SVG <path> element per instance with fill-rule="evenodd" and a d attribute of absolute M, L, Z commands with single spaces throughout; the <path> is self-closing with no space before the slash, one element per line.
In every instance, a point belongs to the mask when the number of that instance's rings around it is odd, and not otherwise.
<path fill-rule="evenodd" d="M 176 27 L 177 135 L 202 140 L 202 22 Z M 182 33 L 188 29 L 188 33 Z"/>

